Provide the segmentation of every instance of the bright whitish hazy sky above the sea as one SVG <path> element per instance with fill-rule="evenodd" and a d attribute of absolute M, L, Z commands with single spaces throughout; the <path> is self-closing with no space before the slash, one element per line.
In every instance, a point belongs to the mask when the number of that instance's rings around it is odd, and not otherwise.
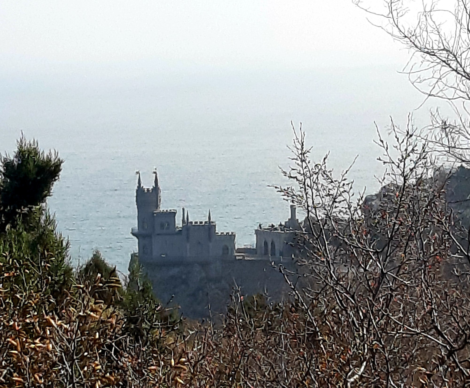
<path fill-rule="evenodd" d="M 351 0 L 1 1 L 0 69 L 404 64 Z"/>

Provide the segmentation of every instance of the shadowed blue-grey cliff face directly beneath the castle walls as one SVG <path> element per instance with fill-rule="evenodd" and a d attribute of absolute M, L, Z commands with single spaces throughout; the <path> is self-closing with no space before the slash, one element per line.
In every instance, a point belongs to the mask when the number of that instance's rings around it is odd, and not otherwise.
<path fill-rule="evenodd" d="M 227 311 L 234 289 L 242 295 L 289 298 L 278 265 L 295 270 L 292 259 L 150 260 L 141 262 L 163 305 L 179 306 L 184 317 L 203 319 Z M 209 309 L 210 306 L 210 309 Z"/>

